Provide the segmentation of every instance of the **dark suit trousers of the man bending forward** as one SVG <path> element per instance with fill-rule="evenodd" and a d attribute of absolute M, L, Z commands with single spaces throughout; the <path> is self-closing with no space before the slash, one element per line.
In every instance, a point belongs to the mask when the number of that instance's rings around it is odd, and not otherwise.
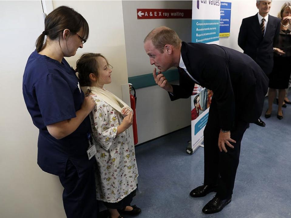
<path fill-rule="evenodd" d="M 237 116 L 238 117 L 238 116 Z M 231 197 L 239 165 L 240 146 L 243 134 L 249 123 L 235 119 L 235 127 L 231 131 L 231 143 L 234 148 L 225 144 L 227 152 L 220 152 L 218 136 L 220 132 L 217 102 L 213 98 L 209 108 L 208 121 L 204 129 L 204 184 L 218 184 L 217 196 L 221 199 Z"/>

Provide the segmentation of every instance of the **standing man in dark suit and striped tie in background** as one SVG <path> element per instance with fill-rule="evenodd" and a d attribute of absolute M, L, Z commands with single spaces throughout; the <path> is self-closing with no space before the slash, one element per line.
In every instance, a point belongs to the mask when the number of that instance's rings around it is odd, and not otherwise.
<path fill-rule="evenodd" d="M 239 29 L 238 44 L 269 75 L 273 69 L 273 43 L 279 36 L 280 19 L 269 15 L 272 1 L 257 1 L 259 13 L 244 18 Z M 264 127 L 260 118 L 255 124 Z"/>

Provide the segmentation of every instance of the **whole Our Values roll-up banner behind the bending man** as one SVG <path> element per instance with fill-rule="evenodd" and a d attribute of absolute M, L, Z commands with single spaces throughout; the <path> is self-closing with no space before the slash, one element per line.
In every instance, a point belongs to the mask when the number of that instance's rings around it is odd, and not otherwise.
<path fill-rule="evenodd" d="M 192 2 L 192 42 L 219 45 L 220 1 Z M 199 54 L 197 54 L 199 55 Z M 203 147 L 212 91 L 197 84 L 191 96 L 191 151 Z"/>

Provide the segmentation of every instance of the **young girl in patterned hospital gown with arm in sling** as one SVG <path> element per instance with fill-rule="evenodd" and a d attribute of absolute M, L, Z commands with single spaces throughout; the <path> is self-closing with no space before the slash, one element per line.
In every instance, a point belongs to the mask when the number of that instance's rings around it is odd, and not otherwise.
<path fill-rule="evenodd" d="M 101 54 L 86 53 L 77 61 L 78 77 L 85 94 L 95 100 L 90 114 L 96 146 L 96 195 L 110 211 L 136 215 L 140 208 L 130 206 L 137 188 L 137 163 L 128 128 L 133 122 L 132 109 L 103 88 L 111 83 L 112 67 Z"/>

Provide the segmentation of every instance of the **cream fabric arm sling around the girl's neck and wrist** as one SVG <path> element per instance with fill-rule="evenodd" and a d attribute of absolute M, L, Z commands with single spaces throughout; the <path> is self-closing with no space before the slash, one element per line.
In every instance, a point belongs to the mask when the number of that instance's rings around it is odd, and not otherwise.
<path fill-rule="evenodd" d="M 86 90 L 84 90 L 84 88 Z M 108 91 L 104 88 L 99 88 L 99 87 L 95 87 L 95 86 L 87 86 L 87 87 L 83 87 L 82 89 L 84 91 L 86 91 L 85 93 L 88 93 L 90 90 L 90 92 L 92 94 L 101 98 L 103 101 L 105 101 L 111 107 L 113 107 L 115 110 L 120 112 L 120 114 L 122 114 L 121 111 L 123 108 L 129 109 L 133 113 L 133 110 L 124 101 L 122 101 L 119 97 L 117 97 L 116 95 L 112 94 L 110 91 Z M 124 117 L 125 115 L 122 114 L 122 116 Z"/>

